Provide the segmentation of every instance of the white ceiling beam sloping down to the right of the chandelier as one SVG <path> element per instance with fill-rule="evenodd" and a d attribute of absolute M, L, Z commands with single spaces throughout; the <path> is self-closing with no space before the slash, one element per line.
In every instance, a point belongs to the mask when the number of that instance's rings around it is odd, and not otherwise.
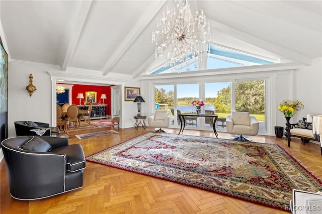
<path fill-rule="evenodd" d="M 230 35 L 236 39 L 248 42 L 252 45 L 255 45 L 259 48 L 263 48 L 264 50 L 270 51 L 272 53 L 278 54 L 286 59 L 292 60 L 299 64 L 306 65 L 306 66 L 311 65 L 312 59 L 307 56 L 304 56 L 292 50 L 283 48 L 281 46 L 278 46 L 266 40 L 250 35 L 248 33 L 236 30 L 234 28 L 231 28 L 219 22 L 216 22 L 210 19 L 208 19 L 208 21 L 209 21 L 210 27 L 213 29 L 216 29 L 219 32 Z"/>

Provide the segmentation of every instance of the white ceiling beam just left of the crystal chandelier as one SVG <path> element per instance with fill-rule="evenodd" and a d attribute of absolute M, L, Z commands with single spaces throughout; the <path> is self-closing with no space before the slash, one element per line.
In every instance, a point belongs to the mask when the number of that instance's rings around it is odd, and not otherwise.
<path fill-rule="evenodd" d="M 155 14 L 163 7 L 166 0 L 157 1 L 157 4 L 146 8 L 145 12 L 142 14 L 140 19 L 136 22 L 130 32 L 127 34 L 125 39 L 120 42 L 120 45 L 116 48 L 115 53 L 109 58 L 104 68 L 102 69 L 102 75 L 107 75 L 112 71 L 112 68 L 119 61 L 119 59 L 124 55 L 136 38 L 142 33 L 150 21 L 154 18 Z"/>

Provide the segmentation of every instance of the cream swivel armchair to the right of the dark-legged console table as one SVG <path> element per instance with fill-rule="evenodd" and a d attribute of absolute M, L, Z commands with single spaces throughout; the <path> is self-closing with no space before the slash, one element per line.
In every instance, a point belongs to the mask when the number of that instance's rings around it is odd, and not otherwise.
<path fill-rule="evenodd" d="M 244 137 L 243 135 L 257 135 L 259 123 L 254 116 L 250 116 L 249 112 L 233 112 L 232 115 L 227 116 L 226 128 L 229 134 L 239 135 L 231 137 L 232 139 L 252 141 L 251 138 Z"/>

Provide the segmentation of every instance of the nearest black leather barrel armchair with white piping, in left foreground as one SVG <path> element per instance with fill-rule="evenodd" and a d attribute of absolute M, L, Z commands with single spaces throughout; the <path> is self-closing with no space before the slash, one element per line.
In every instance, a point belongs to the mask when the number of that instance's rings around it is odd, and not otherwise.
<path fill-rule="evenodd" d="M 20 200 L 41 199 L 83 187 L 83 148 L 68 139 L 21 136 L 2 142 L 10 194 Z M 48 150 L 48 151 L 47 151 Z"/>

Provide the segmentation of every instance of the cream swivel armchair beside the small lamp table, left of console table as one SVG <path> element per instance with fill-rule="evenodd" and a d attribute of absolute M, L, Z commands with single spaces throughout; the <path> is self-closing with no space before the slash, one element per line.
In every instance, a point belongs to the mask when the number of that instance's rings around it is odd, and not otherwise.
<path fill-rule="evenodd" d="M 165 110 L 155 110 L 155 113 L 147 118 L 150 127 L 159 128 L 155 132 L 166 132 L 162 128 L 170 126 L 171 114 Z"/>

